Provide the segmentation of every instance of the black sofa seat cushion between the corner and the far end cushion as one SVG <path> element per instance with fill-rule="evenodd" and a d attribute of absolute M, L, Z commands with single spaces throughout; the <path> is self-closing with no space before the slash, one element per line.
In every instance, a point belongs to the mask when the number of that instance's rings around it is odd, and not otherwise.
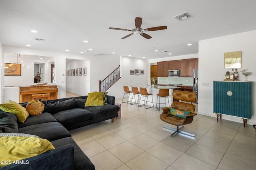
<path fill-rule="evenodd" d="M 82 108 L 60 111 L 53 115 L 64 127 L 92 119 L 91 111 Z"/>

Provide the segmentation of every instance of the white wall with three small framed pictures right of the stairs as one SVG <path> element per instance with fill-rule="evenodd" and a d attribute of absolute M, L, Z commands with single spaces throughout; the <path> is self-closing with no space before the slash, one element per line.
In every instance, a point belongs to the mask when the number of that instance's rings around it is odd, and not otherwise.
<path fill-rule="evenodd" d="M 121 79 L 116 82 L 107 92 L 116 98 L 122 98 L 124 95 L 123 86 L 145 87 L 150 80 L 149 63 L 146 59 L 121 56 Z M 130 70 L 144 70 L 144 74 L 130 74 Z"/>

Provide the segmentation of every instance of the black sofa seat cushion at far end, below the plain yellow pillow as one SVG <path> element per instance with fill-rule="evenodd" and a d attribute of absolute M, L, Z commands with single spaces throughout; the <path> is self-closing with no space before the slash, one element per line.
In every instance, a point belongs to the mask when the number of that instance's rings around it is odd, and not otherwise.
<path fill-rule="evenodd" d="M 97 119 L 99 117 L 117 113 L 120 108 L 116 105 L 105 104 L 104 106 L 84 107 L 84 109 L 91 111 L 93 113 L 93 119 Z"/>

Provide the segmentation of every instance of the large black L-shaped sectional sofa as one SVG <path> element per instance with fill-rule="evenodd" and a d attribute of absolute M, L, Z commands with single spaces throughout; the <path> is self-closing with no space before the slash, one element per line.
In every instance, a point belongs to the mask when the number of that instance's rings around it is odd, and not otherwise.
<path fill-rule="evenodd" d="M 114 105 L 115 97 L 107 96 L 104 106 L 84 107 L 87 96 L 42 101 L 42 114 L 29 116 L 24 123 L 17 121 L 12 113 L 0 110 L 0 133 L 26 133 L 47 139 L 55 147 L 25 160 L 29 164 L 10 164 L 0 170 L 75 169 L 94 170 L 94 165 L 72 139 L 68 130 L 76 129 L 107 119 L 118 117 L 119 107 Z M 27 103 L 21 103 L 26 107 Z"/>

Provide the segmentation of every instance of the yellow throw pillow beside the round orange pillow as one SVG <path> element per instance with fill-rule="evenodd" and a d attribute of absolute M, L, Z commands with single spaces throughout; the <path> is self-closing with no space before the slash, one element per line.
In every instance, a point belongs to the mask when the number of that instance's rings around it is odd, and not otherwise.
<path fill-rule="evenodd" d="M 24 123 L 24 121 L 29 116 L 25 107 L 22 107 L 20 104 L 12 100 L 6 100 L 5 103 L 0 104 L 0 109 L 8 113 L 14 113 L 17 116 L 18 121 L 21 123 Z"/>

